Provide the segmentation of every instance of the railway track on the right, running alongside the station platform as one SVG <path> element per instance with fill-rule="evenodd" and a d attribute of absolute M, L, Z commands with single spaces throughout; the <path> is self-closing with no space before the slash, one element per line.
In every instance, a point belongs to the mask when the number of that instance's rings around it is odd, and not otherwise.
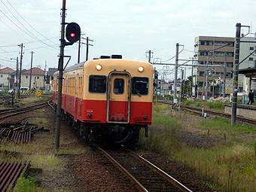
<path fill-rule="evenodd" d="M 158 102 L 163 103 L 163 104 L 167 104 L 167 105 L 171 105 L 170 102 L 163 102 L 163 101 L 158 101 Z M 194 108 L 194 107 L 191 107 L 191 106 L 188 106 L 188 105 L 181 105 L 181 109 L 183 109 L 184 111 L 190 111 L 190 112 L 202 115 L 202 108 Z M 226 117 L 226 118 L 229 118 L 229 119 L 231 118 L 230 114 L 226 114 L 226 113 L 223 113 L 221 111 L 212 111 L 212 110 L 209 110 L 209 109 L 206 109 L 206 108 L 204 108 L 203 111 L 206 114 L 212 114 L 212 115 L 216 115 L 216 116 L 220 116 L 220 117 Z M 239 120 L 239 121 L 242 121 L 242 122 L 245 122 L 245 123 L 256 124 L 256 120 L 246 118 L 246 117 L 242 117 L 242 116 L 238 116 L 238 115 L 236 116 L 236 120 Z"/>

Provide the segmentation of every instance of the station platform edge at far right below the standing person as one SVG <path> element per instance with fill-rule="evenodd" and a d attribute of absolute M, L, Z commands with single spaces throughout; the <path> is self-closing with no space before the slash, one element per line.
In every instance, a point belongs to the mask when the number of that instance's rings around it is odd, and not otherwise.
<path fill-rule="evenodd" d="M 231 114 L 231 104 L 225 104 L 225 113 Z M 237 104 L 236 115 L 256 120 L 256 105 Z"/>

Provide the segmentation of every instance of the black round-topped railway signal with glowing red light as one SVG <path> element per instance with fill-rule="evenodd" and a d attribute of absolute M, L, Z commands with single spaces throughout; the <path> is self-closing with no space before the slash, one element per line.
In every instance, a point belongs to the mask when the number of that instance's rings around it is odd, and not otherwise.
<path fill-rule="evenodd" d="M 78 23 L 69 23 L 66 26 L 66 38 L 69 41 L 66 45 L 72 45 L 80 39 L 81 29 Z"/>

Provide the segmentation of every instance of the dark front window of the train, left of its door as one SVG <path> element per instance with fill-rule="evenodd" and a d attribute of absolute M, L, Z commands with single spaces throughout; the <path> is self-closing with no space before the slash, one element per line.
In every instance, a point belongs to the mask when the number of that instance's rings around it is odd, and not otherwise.
<path fill-rule="evenodd" d="M 90 75 L 89 92 L 90 93 L 106 93 L 107 77 L 103 75 Z"/>

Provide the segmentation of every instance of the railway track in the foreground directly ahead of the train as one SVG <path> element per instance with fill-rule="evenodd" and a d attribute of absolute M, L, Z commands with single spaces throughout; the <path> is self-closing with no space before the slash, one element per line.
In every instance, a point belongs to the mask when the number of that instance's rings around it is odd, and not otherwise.
<path fill-rule="evenodd" d="M 105 157 L 107 157 L 114 166 L 120 169 L 130 181 L 136 184 L 139 191 L 192 191 L 133 151 L 125 149 L 113 151 L 103 150 L 102 148 L 99 148 L 99 150 L 102 151 Z"/>

